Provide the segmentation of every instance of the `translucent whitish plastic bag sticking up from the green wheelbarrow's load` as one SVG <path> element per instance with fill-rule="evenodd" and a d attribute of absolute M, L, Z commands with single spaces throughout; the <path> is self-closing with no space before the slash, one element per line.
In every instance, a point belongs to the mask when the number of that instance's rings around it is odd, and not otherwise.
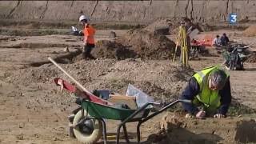
<path fill-rule="evenodd" d="M 154 102 L 153 98 L 131 84 L 128 85 L 126 96 L 135 96 L 138 108 L 142 107 L 147 102 Z"/>

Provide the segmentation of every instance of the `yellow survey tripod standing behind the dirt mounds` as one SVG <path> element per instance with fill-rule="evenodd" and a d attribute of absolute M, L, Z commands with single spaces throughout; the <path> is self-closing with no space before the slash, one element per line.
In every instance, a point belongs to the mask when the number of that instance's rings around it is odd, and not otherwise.
<path fill-rule="evenodd" d="M 188 67 L 189 66 L 189 63 L 188 63 L 189 54 L 188 54 L 188 46 L 187 46 L 187 41 L 186 41 L 186 26 L 184 24 L 182 24 L 178 28 L 178 39 L 176 42 L 173 62 L 176 57 L 178 46 L 181 46 L 180 62 L 182 62 L 183 66 Z"/>

